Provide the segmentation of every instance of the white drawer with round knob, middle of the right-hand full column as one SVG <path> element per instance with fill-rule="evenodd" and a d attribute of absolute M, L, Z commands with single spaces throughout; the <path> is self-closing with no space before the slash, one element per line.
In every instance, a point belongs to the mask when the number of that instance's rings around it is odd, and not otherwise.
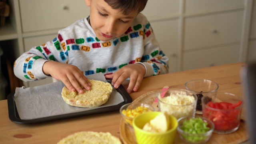
<path fill-rule="evenodd" d="M 184 50 L 239 42 L 243 11 L 185 19 Z"/>

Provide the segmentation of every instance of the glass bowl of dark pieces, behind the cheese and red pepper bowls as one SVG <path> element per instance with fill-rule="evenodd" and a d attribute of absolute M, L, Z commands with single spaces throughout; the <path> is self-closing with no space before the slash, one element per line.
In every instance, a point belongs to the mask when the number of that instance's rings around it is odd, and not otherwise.
<path fill-rule="evenodd" d="M 195 94 L 197 99 L 196 114 L 203 114 L 202 112 L 202 97 L 208 93 L 217 92 L 219 86 L 216 82 L 205 79 L 189 80 L 185 83 L 185 88 Z"/>

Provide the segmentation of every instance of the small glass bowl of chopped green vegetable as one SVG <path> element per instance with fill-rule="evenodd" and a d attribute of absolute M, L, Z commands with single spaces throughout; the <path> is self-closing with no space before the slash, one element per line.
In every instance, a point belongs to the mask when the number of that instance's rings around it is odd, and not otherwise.
<path fill-rule="evenodd" d="M 182 140 L 190 144 L 207 142 L 214 131 L 214 124 L 208 118 L 196 116 L 178 119 L 178 134 Z"/>

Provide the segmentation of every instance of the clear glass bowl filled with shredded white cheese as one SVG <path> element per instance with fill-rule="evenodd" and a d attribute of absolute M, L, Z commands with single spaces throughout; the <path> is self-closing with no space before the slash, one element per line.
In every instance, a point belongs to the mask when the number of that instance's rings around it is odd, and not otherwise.
<path fill-rule="evenodd" d="M 158 95 L 158 108 L 177 119 L 184 116 L 194 117 L 196 113 L 197 96 L 189 90 L 170 88 Z"/>

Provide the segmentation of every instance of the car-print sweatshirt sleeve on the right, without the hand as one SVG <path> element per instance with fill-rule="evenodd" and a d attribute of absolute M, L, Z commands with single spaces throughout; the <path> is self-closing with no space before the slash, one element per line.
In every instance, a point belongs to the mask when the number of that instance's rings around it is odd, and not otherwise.
<path fill-rule="evenodd" d="M 140 63 L 144 64 L 144 77 L 168 73 L 169 58 L 161 50 L 150 23 L 144 24 L 144 54 Z"/>

